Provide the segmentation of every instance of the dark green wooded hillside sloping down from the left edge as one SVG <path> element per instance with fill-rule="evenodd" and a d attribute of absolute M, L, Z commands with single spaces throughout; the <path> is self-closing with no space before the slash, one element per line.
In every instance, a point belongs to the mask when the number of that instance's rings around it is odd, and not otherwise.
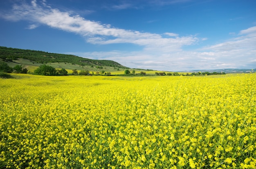
<path fill-rule="evenodd" d="M 0 59 L 4 61 L 17 60 L 18 58 L 28 59 L 37 63 L 49 63 L 49 62 L 67 62 L 70 64 L 78 64 L 81 66 L 107 66 L 107 67 L 117 67 L 121 69 L 126 69 L 125 67 L 112 60 L 93 60 L 82 58 L 74 55 L 58 54 L 58 53 L 48 53 L 44 51 L 34 51 L 26 49 L 16 49 L 0 47 Z"/>

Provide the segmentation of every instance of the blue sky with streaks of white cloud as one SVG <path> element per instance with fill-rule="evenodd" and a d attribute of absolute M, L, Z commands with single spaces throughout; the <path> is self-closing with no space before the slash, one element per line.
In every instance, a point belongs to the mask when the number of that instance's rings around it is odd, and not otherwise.
<path fill-rule="evenodd" d="M 256 0 L 0 1 L 0 46 L 140 69 L 254 69 Z"/>

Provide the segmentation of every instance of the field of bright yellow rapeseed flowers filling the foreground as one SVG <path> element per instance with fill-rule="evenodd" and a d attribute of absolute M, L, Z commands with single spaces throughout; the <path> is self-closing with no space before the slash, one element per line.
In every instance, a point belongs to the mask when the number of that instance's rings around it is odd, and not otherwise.
<path fill-rule="evenodd" d="M 256 74 L 0 79 L 0 168 L 256 168 Z"/>

